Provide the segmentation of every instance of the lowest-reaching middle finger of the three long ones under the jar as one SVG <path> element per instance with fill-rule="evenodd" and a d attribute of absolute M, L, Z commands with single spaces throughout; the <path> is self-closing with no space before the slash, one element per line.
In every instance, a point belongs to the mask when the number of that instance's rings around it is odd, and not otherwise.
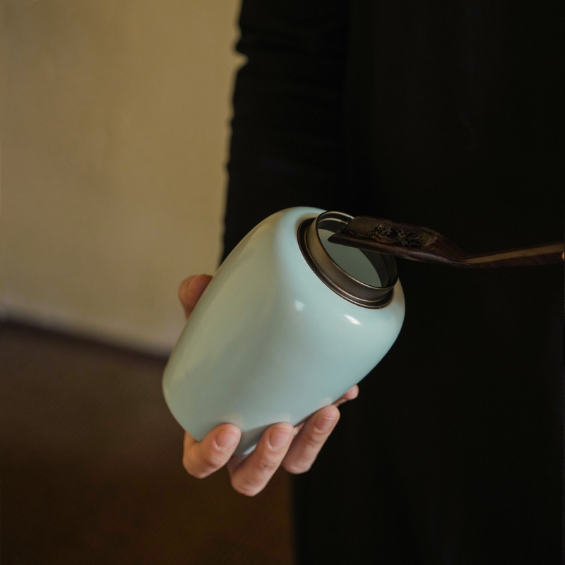
<path fill-rule="evenodd" d="M 246 496 L 261 492 L 280 467 L 294 436 L 295 429 L 291 424 L 270 426 L 249 456 L 233 458 L 228 463 L 232 487 Z"/>

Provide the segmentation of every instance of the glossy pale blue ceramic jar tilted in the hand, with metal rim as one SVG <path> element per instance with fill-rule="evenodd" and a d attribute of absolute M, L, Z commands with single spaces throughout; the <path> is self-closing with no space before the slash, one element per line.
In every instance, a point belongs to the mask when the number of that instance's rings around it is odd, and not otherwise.
<path fill-rule="evenodd" d="M 215 273 L 165 368 L 172 415 L 201 440 L 225 422 L 236 453 L 276 422 L 299 424 L 379 363 L 400 333 L 391 256 L 332 244 L 351 219 L 289 208 L 254 227 Z"/>

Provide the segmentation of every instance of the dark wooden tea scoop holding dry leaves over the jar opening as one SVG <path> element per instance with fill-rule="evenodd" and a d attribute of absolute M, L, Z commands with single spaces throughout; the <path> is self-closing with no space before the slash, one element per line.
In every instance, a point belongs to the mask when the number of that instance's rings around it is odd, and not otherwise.
<path fill-rule="evenodd" d="M 520 267 L 561 263 L 563 242 L 487 254 L 469 254 L 428 227 L 357 216 L 329 242 L 422 261 L 464 268 Z"/>

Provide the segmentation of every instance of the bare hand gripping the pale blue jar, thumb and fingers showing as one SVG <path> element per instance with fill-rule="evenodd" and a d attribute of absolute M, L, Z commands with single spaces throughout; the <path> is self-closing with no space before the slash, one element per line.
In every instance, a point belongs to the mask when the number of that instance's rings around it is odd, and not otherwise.
<path fill-rule="evenodd" d="M 210 280 L 210 275 L 196 275 L 181 283 L 179 299 L 186 319 Z M 338 423 L 338 406 L 357 398 L 358 394 L 359 388 L 355 385 L 334 404 L 321 408 L 298 427 L 287 422 L 273 424 L 249 456 L 234 456 L 241 432 L 233 424 L 215 427 L 202 441 L 184 434 L 184 468 L 189 475 L 202 479 L 225 466 L 232 487 L 241 494 L 254 496 L 266 487 L 280 467 L 294 474 L 309 470 Z"/>

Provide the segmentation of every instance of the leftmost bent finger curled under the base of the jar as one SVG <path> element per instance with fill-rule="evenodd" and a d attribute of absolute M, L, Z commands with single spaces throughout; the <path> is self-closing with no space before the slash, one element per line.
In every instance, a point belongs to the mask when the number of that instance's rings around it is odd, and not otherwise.
<path fill-rule="evenodd" d="M 215 427 L 202 441 L 184 434 L 184 468 L 197 479 L 208 477 L 230 460 L 241 436 L 237 426 L 232 424 Z"/>

